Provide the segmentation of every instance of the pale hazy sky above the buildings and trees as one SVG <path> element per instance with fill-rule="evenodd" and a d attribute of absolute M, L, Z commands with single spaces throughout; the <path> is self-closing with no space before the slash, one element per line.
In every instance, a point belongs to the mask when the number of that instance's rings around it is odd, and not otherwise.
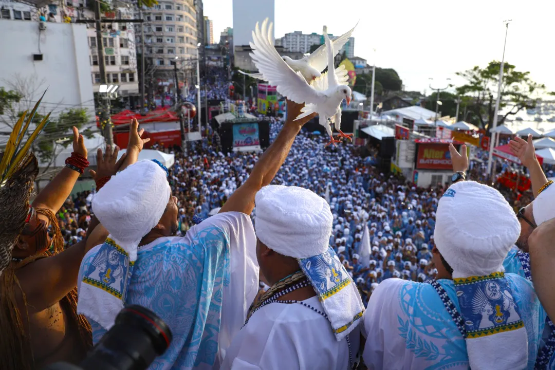
<path fill-rule="evenodd" d="M 215 42 L 225 27 L 233 27 L 232 5 L 233 0 L 204 0 Z M 274 27 L 275 37 L 281 37 L 293 31 L 321 33 L 327 24 L 337 36 L 360 18 L 353 34 L 355 55 L 397 70 L 407 90 L 429 94 L 430 77 L 432 87 L 442 87 L 448 77 L 460 81 L 457 71 L 501 60 L 503 20 L 512 19 L 505 60 L 555 90 L 554 16 L 553 0 L 275 0 Z"/>

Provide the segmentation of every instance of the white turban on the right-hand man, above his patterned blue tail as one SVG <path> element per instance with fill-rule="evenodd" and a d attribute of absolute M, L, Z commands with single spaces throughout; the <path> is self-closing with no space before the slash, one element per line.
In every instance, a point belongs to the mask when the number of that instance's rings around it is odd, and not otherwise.
<path fill-rule="evenodd" d="M 501 193 L 476 181 L 451 185 L 437 206 L 435 244 L 453 277 L 504 271 L 503 260 L 519 234 L 517 217 Z"/>

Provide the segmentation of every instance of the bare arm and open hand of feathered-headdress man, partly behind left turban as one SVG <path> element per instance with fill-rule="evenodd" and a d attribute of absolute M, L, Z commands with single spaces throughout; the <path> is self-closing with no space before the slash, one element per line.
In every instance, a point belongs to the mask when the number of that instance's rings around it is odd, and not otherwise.
<path fill-rule="evenodd" d="M 125 157 L 116 161 L 117 148 L 102 154 L 99 149 L 97 171 L 90 171 L 95 180 L 117 173 Z M 98 226 L 95 226 L 98 225 Z M 94 229 L 94 232 L 92 232 Z M 79 266 L 85 252 L 102 243 L 108 236 L 96 217 L 90 223 L 87 236 L 56 256 L 39 259 L 17 271 L 17 278 L 26 295 L 29 312 L 39 312 L 62 299 L 77 285 Z M 88 249 L 87 249 L 88 247 Z M 40 276 L 41 278 L 37 278 Z M 20 297 L 21 298 L 21 297 Z M 20 299 L 19 302 L 22 302 Z"/>

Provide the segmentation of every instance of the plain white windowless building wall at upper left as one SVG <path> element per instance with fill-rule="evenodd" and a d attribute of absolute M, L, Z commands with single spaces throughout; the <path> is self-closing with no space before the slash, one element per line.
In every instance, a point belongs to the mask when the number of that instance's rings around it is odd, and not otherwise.
<path fill-rule="evenodd" d="M 12 19 L 0 19 L 0 34 L 9 35 L 2 38 L 0 87 L 24 93 L 22 103 L 28 102 L 28 107 L 21 110 L 32 108 L 48 89 L 39 113 L 57 116 L 70 108 L 84 108 L 94 117 L 87 26 L 13 19 L 14 9 L 10 11 Z M 21 10 L 22 16 L 27 11 Z"/>

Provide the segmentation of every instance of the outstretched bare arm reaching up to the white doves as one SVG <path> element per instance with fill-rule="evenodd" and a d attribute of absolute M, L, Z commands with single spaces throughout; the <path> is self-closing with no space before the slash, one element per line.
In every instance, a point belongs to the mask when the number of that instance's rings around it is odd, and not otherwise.
<path fill-rule="evenodd" d="M 260 159 L 254 165 L 249 178 L 239 189 L 235 190 L 221 207 L 220 212 L 243 212 L 250 215 L 254 208 L 254 196 L 263 186 L 269 185 L 274 179 L 279 168 L 284 163 L 295 137 L 301 130 L 302 125 L 312 119 L 315 114 L 294 121 L 301 113 L 304 104 L 297 104 L 287 100 L 287 118 L 278 137 L 274 140 Z"/>

